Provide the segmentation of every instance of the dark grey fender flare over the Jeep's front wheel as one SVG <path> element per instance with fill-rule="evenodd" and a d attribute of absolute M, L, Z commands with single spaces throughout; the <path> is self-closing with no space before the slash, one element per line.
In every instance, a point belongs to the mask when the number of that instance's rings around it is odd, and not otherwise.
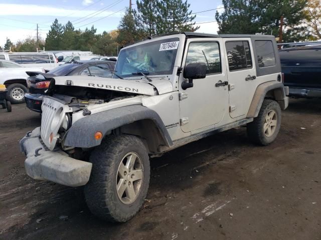
<path fill-rule="evenodd" d="M 100 145 L 103 138 L 95 139 L 94 134 L 97 131 L 100 131 L 104 136 L 110 130 L 143 119 L 152 120 L 166 145 L 173 145 L 173 141 L 161 117 L 154 110 L 142 105 L 122 106 L 94 113 L 77 120 L 66 132 L 64 145 L 85 148 L 97 146 Z"/>

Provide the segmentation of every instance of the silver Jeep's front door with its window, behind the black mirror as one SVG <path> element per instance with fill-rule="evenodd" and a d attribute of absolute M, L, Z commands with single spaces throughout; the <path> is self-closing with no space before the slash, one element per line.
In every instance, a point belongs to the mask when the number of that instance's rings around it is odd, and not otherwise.
<path fill-rule="evenodd" d="M 194 79 L 194 86 L 186 90 L 181 85 L 187 79 L 183 74 L 180 76 L 180 116 L 184 132 L 202 130 L 201 128 L 211 125 L 214 127 L 228 112 L 228 82 L 225 57 L 221 54 L 222 42 L 221 38 L 187 40 L 188 50 L 183 58 L 183 71 L 184 66 L 189 63 L 205 62 L 207 75 L 205 78 Z"/>

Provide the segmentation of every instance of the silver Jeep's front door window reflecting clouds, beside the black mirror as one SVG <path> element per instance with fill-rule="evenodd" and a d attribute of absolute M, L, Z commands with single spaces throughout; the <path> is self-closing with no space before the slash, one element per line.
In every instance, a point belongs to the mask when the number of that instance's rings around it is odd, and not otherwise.
<path fill-rule="evenodd" d="M 191 42 L 187 52 L 186 63 L 205 62 L 206 74 L 221 73 L 221 56 L 219 44 L 210 42 Z"/>

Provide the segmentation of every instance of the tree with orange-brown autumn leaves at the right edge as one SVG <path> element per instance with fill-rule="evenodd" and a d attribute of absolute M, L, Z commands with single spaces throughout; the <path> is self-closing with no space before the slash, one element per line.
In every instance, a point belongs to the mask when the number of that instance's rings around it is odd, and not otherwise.
<path fill-rule="evenodd" d="M 308 0 L 305 24 L 311 40 L 321 39 L 321 0 Z"/>

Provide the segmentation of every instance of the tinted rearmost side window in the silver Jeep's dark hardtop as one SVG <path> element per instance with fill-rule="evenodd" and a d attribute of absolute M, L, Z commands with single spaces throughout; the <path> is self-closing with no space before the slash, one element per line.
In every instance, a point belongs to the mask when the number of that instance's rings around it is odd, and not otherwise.
<path fill-rule="evenodd" d="M 275 55 L 272 41 L 256 40 L 255 47 L 259 67 L 275 65 Z"/>

